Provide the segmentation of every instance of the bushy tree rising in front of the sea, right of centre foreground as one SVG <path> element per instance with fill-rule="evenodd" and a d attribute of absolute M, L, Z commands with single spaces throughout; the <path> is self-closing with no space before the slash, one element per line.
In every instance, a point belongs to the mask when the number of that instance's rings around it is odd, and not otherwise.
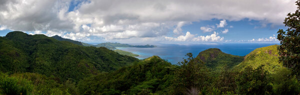
<path fill-rule="evenodd" d="M 193 58 L 187 53 L 187 59 L 178 63 L 179 69 L 175 71 L 172 87 L 175 94 L 184 94 L 195 88 L 200 90 L 207 86 L 208 74 L 204 63 L 198 58 Z"/>

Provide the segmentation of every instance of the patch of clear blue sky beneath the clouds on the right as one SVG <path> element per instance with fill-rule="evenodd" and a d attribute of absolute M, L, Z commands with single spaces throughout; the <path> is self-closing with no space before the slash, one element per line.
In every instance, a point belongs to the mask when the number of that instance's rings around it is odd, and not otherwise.
<path fill-rule="evenodd" d="M 182 30 L 189 31 L 192 34 L 209 35 L 211 32 L 202 32 L 201 26 L 215 25 L 219 23 L 219 19 L 203 20 L 192 22 L 192 24 L 184 25 Z M 230 27 L 232 26 L 232 27 Z M 228 29 L 226 34 L 221 33 L 224 29 Z M 258 38 L 268 38 L 277 36 L 278 29 L 286 29 L 284 25 L 271 26 L 270 24 L 262 26 L 257 20 L 242 19 L 240 21 L 227 21 L 227 25 L 223 28 L 217 28 L 213 31 L 219 32 L 219 35 L 225 40 L 252 40 Z"/>

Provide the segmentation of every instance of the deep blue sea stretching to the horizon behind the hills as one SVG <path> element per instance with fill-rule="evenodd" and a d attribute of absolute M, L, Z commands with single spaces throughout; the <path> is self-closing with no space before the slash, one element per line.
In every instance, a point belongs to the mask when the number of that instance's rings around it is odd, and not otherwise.
<path fill-rule="evenodd" d="M 154 48 L 134 48 L 134 47 L 117 47 L 117 49 L 138 54 L 138 59 L 145 59 L 153 55 L 157 55 L 162 59 L 169 61 L 171 64 L 177 64 L 185 58 L 186 53 L 192 53 L 197 56 L 199 52 L 208 48 L 218 48 L 224 53 L 245 56 L 256 48 L 270 46 L 274 44 L 262 43 L 225 43 L 225 44 L 193 44 L 193 45 L 178 45 L 178 44 L 160 44 Z"/>

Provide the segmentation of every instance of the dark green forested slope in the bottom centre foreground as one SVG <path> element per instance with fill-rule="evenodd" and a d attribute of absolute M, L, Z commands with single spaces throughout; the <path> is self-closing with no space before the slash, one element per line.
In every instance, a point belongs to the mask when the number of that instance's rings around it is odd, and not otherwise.
<path fill-rule="evenodd" d="M 138 94 L 142 92 L 166 94 L 169 92 L 175 66 L 153 57 L 135 62 L 111 73 L 87 77 L 78 83 L 83 95 Z"/>

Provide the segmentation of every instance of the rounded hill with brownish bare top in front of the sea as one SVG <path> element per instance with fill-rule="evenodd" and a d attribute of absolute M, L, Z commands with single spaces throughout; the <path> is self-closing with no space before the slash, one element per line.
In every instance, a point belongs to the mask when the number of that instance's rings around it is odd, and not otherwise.
<path fill-rule="evenodd" d="M 197 58 L 200 58 L 208 68 L 212 69 L 221 68 L 223 66 L 231 68 L 243 60 L 242 56 L 226 54 L 217 48 L 206 49 L 200 52 Z"/>

